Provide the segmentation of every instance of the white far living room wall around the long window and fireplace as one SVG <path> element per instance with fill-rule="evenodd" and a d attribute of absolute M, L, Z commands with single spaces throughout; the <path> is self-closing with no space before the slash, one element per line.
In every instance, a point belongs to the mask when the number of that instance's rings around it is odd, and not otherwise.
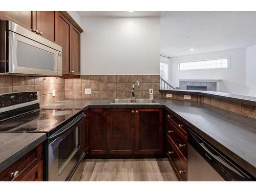
<path fill-rule="evenodd" d="M 178 71 L 179 62 L 215 59 L 223 57 L 230 58 L 230 69 Z M 178 56 L 172 57 L 170 59 L 168 81 L 172 86 L 179 87 L 179 79 L 222 79 L 219 89 L 221 92 L 247 95 L 245 86 L 245 69 L 245 48 Z"/>

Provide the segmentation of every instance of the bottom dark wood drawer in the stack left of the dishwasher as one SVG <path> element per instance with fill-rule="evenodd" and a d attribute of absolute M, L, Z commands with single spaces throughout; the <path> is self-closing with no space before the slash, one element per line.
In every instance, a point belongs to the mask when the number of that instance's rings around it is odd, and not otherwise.
<path fill-rule="evenodd" d="M 187 181 L 187 162 L 183 161 L 167 138 L 167 156 L 179 180 Z"/>

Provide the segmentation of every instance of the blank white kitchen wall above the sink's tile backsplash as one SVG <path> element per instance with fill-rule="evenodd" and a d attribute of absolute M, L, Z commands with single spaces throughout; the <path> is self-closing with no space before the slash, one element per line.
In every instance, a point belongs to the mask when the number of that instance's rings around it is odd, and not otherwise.
<path fill-rule="evenodd" d="M 159 74 L 159 17 L 81 17 L 81 74 Z"/>

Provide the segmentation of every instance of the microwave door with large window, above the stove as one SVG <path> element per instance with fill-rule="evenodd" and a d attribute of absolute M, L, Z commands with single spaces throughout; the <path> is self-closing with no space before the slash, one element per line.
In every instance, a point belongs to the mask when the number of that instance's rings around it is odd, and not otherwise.
<path fill-rule="evenodd" d="M 60 52 L 12 31 L 9 39 L 9 73 L 58 75 Z"/>

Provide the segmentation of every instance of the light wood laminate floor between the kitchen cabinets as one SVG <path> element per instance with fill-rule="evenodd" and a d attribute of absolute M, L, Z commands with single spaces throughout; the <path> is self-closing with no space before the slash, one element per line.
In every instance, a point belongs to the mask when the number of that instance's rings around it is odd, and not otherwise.
<path fill-rule="evenodd" d="M 168 159 L 87 159 L 81 181 L 178 181 Z"/>

